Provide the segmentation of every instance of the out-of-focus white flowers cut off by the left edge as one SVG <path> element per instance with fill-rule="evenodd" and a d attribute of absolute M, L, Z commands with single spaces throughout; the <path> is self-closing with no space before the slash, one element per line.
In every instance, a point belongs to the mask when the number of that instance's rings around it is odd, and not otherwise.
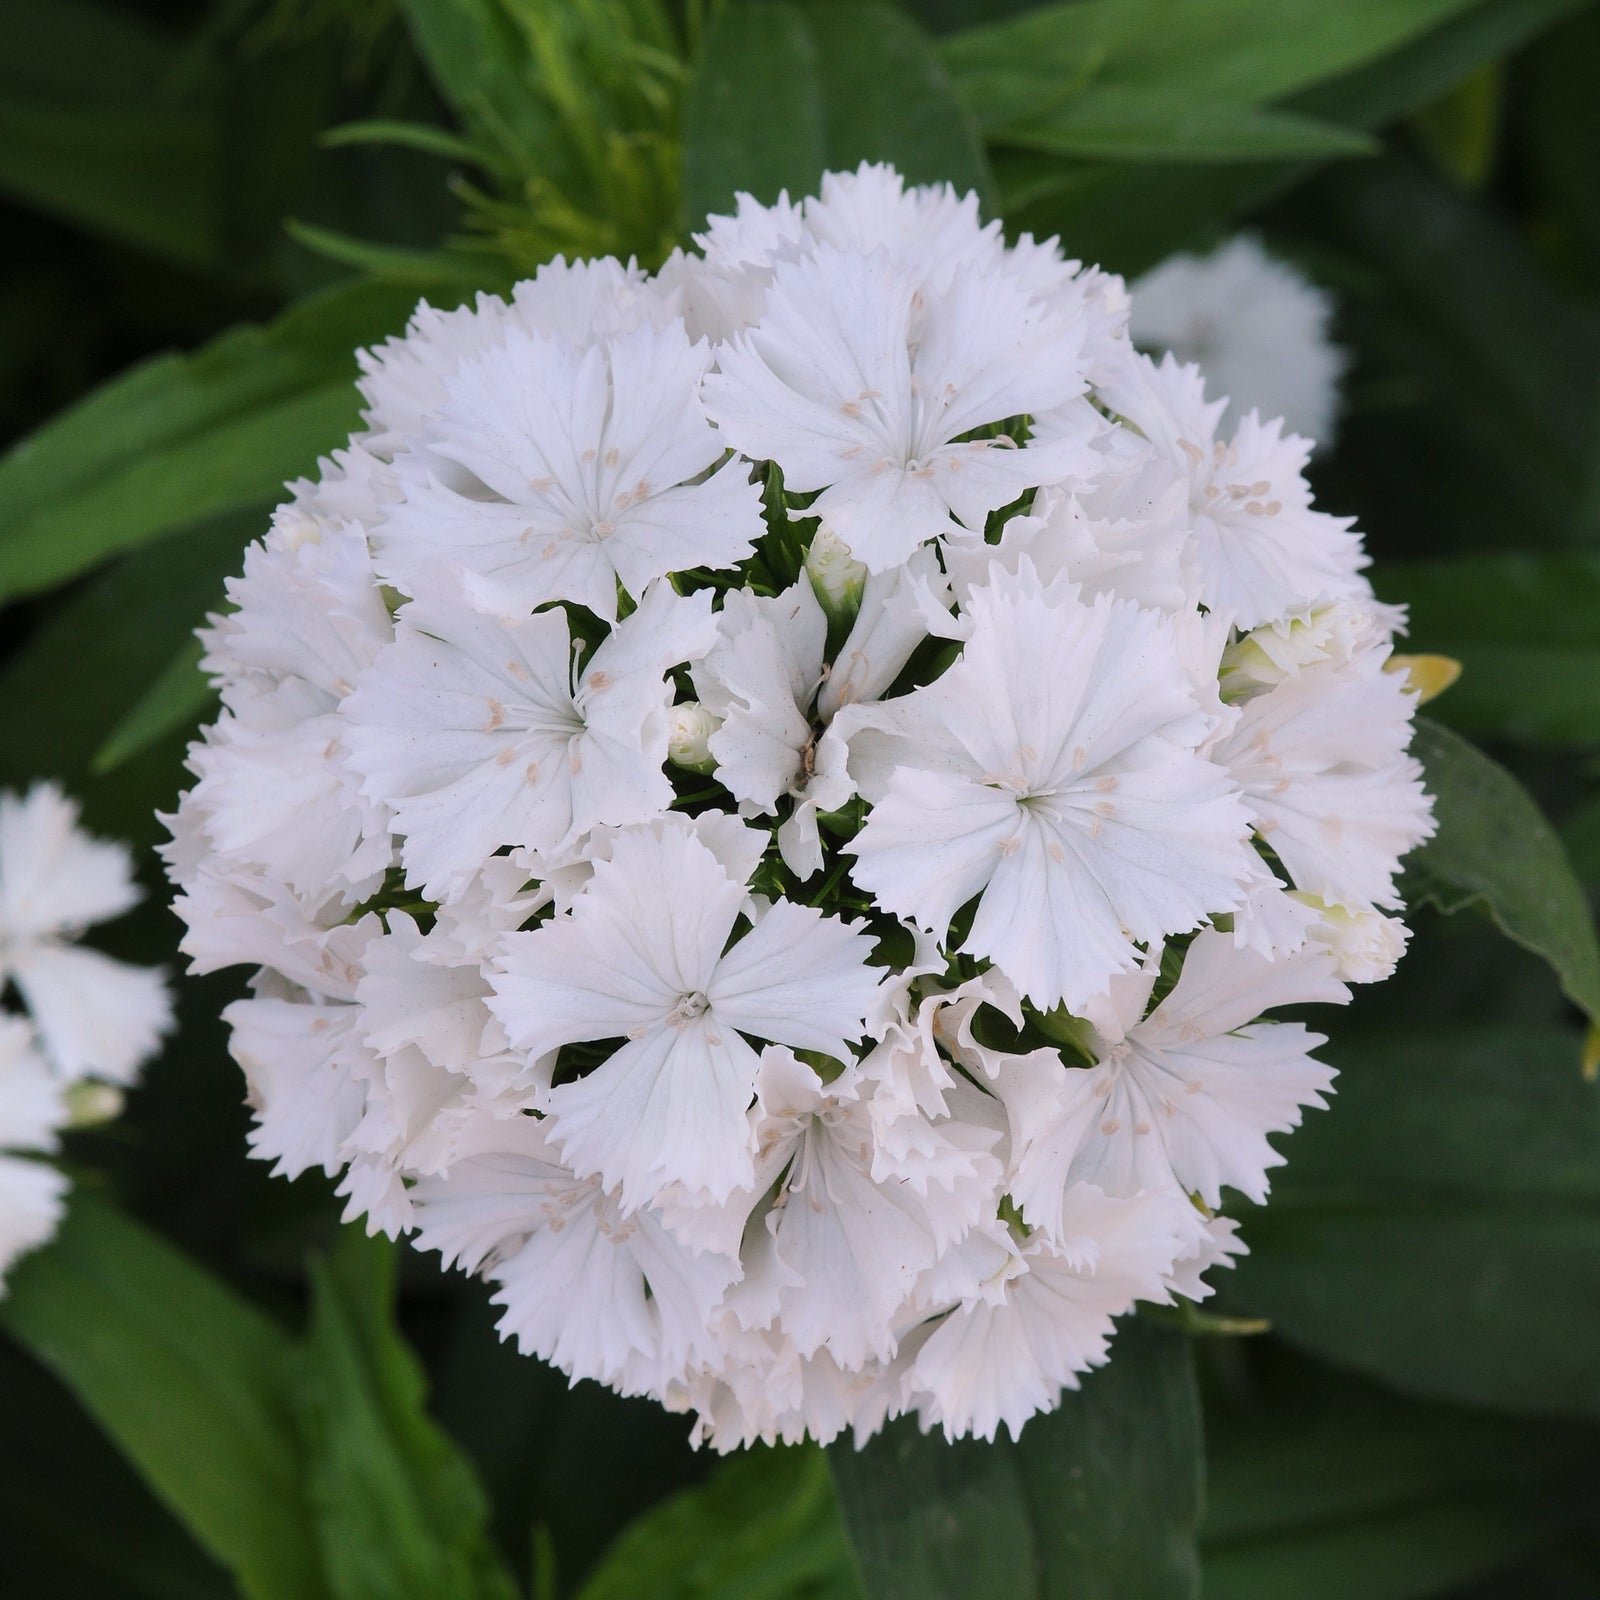
<path fill-rule="evenodd" d="M 61 1221 L 67 1179 L 43 1157 L 64 1128 L 115 1115 L 171 1026 L 160 971 L 77 947 L 139 901 L 125 845 L 91 838 L 54 784 L 0 794 L 0 1293 Z"/>

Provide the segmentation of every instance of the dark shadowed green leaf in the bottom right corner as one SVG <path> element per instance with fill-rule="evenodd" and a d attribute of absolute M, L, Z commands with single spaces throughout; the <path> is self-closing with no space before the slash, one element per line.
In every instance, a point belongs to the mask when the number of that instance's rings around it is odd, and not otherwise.
<path fill-rule="evenodd" d="M 1253 1378 L 1208 1395 L 1206 1600 L 1422 1600 L 1547 1541 L 1570 1480 L 1594 1472 L 1586 1427 L 1405 1400 L 1309 1362 Z"/>

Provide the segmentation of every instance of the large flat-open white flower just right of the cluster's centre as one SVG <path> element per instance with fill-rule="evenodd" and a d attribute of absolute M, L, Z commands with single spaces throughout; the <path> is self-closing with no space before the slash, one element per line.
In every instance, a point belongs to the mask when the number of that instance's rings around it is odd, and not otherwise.
<path fill-rule="evenodd" d="M 1245 813 L 1155 613 L 995 571 L 962 659 L 843 714 L 872 802 L 856 882 L 923 928 L 979 896 L 963 950 L 1042 1006 L 1078 1006 L 1162 939 L 1230 909 Z"/>

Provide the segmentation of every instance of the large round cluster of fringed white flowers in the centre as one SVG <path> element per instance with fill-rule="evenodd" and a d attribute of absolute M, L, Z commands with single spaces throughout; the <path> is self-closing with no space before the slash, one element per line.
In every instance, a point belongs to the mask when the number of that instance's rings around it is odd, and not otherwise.
<path fill-rule="evenodd" d="M 286 1174 L 717 1448 L 1013 1432 L 1208 1293 L 1430 830 L 1309 445 L 885 168 L 362 357 L 170 859 Z"/>

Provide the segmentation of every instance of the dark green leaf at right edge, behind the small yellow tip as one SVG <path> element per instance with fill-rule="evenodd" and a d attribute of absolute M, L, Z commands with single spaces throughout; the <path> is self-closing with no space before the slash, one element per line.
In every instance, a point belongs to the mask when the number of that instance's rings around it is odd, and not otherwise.
<path fill-rule="evenodd" d="M 1600 557 L 1389 563 L 1376 581 L 1386 600 L 1410 606 L 1418 650 L 1462 666 L 1435 717 L 1464 733 L 1538 744 L 1600 739 Z"/>

